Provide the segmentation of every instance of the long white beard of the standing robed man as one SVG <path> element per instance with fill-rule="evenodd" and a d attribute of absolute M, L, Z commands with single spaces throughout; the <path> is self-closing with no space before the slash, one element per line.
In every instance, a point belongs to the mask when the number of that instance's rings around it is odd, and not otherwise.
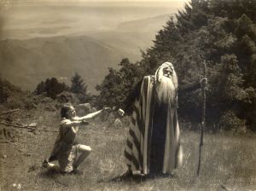
<path fill-rule="evenodd" d="M 160 72 L 156 84 L 156 93 L 160 103 L 172 104 L 177 97 L 177 76 L 172 73 L 171 78 L 167 78 Z"/>

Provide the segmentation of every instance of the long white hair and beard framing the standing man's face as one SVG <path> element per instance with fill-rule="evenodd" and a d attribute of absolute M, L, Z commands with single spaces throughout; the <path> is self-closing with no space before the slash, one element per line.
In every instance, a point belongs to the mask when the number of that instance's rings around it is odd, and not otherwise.
<path fill-rule="evenodd" d="M 172 75 L 170 78 L 164 75 L 164 68 L 170 67 Z M 155 72 L 156 93 L 160 102 L 169 104 L 177 99 L 177 74 L 171 62 L 163 63 Z"/>

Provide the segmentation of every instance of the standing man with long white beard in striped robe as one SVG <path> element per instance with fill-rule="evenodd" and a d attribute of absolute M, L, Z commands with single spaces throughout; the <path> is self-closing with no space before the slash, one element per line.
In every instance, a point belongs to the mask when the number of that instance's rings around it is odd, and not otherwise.
<path fill-rule="evenodd" d="M 128 96 L 134 102 L 125 145 L 125 161 L 132 174 L 172 175 L 182 164 L 177 121 L 177 75 L 171 62 L 153 76 L 145 76 Z M 119 109 L 119 114 L 125 112 Z"/>

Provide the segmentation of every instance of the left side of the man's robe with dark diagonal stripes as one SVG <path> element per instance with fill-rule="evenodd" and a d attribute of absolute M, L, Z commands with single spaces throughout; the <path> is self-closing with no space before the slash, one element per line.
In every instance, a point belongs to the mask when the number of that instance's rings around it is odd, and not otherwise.
<path fill-rule="evenodd" d="M 143 78 L 140 96 L 134 103 L 134 111 L 131 116 L 131 126 L 125 146 L 126 164 L 131 166 L 132 171 L 140 171 L 148 174 L 149 151 L 152 125 L 152 98 L 153 83 L 150 76 Z"/>

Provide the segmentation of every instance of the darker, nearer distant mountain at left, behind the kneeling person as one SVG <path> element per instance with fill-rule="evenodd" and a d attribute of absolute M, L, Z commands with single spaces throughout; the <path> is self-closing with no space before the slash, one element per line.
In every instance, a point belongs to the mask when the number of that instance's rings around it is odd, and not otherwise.
<path fill-rule="evenodd" d="M 93 90 L 121 59 L 117 49 L 85 36 L 4 40 L 0 49 L 0 75 L 23 90 L 50 77 L 68 82 L 74 72 Z"/>

